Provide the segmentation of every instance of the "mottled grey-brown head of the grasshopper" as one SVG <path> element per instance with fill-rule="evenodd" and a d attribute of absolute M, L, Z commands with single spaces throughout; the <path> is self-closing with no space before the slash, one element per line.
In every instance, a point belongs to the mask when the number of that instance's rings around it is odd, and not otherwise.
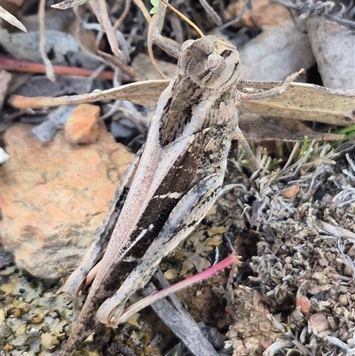
<path fill-rule="evenodd" d="M 228 90 L 239 81 L 239 53 L 217 36 L 188 40 L 181 46 L 180 66 L 194 83 L 210 89 Z"/>

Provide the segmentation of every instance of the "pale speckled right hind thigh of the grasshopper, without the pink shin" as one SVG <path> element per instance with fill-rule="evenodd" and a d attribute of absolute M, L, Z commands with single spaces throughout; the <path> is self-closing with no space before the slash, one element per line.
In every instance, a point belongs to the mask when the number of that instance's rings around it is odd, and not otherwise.
<path fill-rule="evenodd" d="M 191 233 L 201 219 L 207 214 L 217 199 L 223 183 L 223 174 L 212 174 L 201 179 L 194 185 L 184 197 L 177 203 L 170 217 L 162 227 L 146 254 L 141 258 L 141 263 L 130 273 L 120 289 L 113 297 L 106 299 L 98 311 L 98 319 L 117 326 L 124 320 L 120 320 L 122 305 L 132 293 L 143 287 L 154 274 L 157 266 L 178 243 Z"/>

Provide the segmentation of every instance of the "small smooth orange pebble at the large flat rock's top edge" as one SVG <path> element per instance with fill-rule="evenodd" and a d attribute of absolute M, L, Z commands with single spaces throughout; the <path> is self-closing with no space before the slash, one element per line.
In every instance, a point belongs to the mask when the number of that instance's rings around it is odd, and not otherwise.
<path fill-rule="evenodd" d="M 99 136 L 99 107 L 81 104 L 67 118 L 66 138 L 73 144 L 91 144 Z"/>

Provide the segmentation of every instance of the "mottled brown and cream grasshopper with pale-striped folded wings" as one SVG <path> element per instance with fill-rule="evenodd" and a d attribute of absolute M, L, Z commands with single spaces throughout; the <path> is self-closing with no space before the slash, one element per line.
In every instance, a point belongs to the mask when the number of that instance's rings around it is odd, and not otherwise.
<path fill-rule="evenodd" d="M 242 138 L 235 105 L 279 95 L 296 77 L 243 94 L 235 89 L 239 67 L 239 53 L 225 39 L 204 36 L 182 44 L 177 74 L 157 102 L 146 144 L 122 178 L 106 228 L 63 288 L 77 295 L 92 281 L 62 356 L 75 352 L 98 323 L 114 328 L 122 322 L 130 295 L 212 207 L 231 142 Z"/>

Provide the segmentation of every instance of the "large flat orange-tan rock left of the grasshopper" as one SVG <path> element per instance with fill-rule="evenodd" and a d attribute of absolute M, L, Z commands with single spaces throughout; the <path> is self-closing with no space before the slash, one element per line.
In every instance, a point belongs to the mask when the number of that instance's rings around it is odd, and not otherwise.
<path fill-rule="evenodd" d="M 133 155 L 103 123 L 90 146 L 71 146 L 63 131 L 43 146 L 31 128 L 4 134 L 12 159 L 0 167 L 2 244 L 20 268 L 57 279 L 79 264 Z"/>

